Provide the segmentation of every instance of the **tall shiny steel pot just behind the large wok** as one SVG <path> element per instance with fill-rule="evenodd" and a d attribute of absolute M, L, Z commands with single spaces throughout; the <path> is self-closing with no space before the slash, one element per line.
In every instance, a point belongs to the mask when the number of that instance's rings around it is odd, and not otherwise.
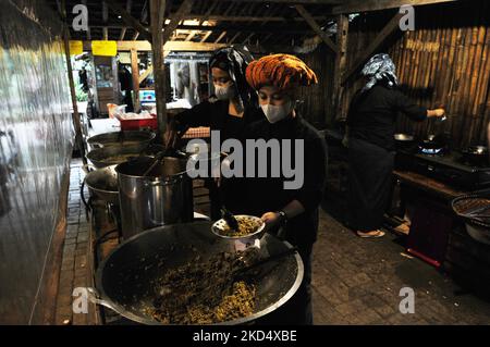
<path fill-rule="evenodd" d="M 115 168 L 124 239 L 149 228 L 194 219 L 193 184 L 185 171 L 186 159 L 163 158 L 143 177 L 152 162 L 151 158 L 139 158 Z"/>

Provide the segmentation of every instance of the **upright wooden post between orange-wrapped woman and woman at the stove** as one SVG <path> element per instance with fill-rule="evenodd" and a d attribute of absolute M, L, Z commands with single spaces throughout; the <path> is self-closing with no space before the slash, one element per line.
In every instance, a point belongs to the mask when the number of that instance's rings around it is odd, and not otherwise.
<path fill-rule="evenodd" d="M 343 117 L 342 113 L 342 97 L 344 88 L 342 87 L 342 76 L 347 65 L 347 34 L 348 34 L 348 17 L 345 14 L 340 14 L 336 17 L 336 47 L 338 53 L 335 58 L 335 70 L 333 75 L 333 94 L 332 94 L 332 109 L 335 119 Z"/>

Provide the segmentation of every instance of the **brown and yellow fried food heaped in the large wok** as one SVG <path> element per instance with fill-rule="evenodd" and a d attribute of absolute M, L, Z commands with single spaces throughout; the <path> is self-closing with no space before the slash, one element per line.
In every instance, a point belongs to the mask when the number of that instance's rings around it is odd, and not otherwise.
<path fill-rule="evenodd" d="M 250 278 L 235 278 L 244 255 L 219 253 L 203 262 L 167 272 L 155 286 L 154 307 L 146 313 L 166 324 L 215 324 L 252 315 L 256 286 Z"/>

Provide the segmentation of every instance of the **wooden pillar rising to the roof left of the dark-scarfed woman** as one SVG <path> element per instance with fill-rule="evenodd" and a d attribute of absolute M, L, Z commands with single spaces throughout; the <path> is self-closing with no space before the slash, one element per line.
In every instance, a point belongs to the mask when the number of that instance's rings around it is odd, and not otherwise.
<path fill-rule="evenodd" d="M 151 16 L 151 37 L 154 53 L 154 75 L 155 94 L 157 97 L 157 117 L 158 135 L 160 141 L 163 141 L 163 135 L 167 129 L 167 92 L 166 92 L 166 65 L 163 52 L 163 20 L 166 11 L 166 0 L 150 0 Z"/>

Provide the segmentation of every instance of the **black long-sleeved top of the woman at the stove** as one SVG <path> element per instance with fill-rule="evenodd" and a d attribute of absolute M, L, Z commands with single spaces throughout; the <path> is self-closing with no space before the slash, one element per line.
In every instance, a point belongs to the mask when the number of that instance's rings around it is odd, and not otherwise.
<path fill-rule="evenodd" d="M 366 92 L 358 91 L 347 115 L 350 136 L 393 150 L 399 111 L 414 121 L 427 117 L 427 108 L 415 104 L 397 89 L 376 85 Z"/>

